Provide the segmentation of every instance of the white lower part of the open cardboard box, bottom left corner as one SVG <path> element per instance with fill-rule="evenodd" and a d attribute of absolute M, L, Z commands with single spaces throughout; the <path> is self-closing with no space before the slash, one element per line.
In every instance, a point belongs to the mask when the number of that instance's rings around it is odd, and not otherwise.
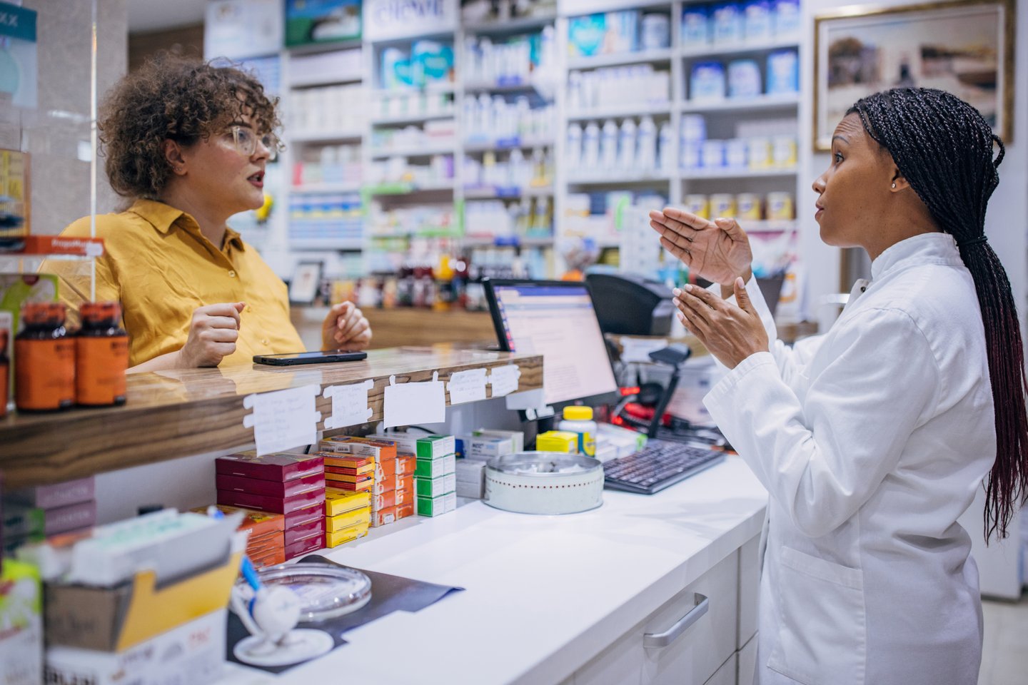
<path fill-rule="evenodd" d="M 226 616 L 224 609 L 213 611 L 121 652 L 50 646 L 46 650 L 45 682 L 54 685 L 217 682 L 225 661 Z"/>

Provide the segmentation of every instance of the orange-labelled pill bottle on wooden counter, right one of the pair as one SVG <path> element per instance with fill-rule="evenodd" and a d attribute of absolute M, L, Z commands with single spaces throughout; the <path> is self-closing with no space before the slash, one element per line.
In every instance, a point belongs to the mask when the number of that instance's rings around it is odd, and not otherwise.
<path fill-rule="evenodd" d="M 117 302 L 86 302 L 75 337 L 75 403 L 86 407 L 123 405 L 128 368 L 128 334 L 121 329 Z"/>

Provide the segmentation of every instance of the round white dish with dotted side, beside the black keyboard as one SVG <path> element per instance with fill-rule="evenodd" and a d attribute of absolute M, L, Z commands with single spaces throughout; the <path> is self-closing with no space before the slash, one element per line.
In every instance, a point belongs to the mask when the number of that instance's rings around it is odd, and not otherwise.
<path fill-rule="evenodd" d="M 576 513 L 603 503 L 603 467 L 591 458 L 561 452 L 518 452 L 485 466 L 489 506 L 517 513 Z"/>

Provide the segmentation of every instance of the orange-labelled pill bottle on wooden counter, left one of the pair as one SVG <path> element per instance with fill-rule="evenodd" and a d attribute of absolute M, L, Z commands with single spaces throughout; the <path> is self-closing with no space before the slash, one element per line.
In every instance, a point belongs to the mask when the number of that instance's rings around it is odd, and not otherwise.
<path fill-rule="evenodd" d="M 46 412 L 75 404 L 75 340 L 64 328 L 65 306 L 31 302 L 22 310 L 14 338 L 14 404 Z"/>

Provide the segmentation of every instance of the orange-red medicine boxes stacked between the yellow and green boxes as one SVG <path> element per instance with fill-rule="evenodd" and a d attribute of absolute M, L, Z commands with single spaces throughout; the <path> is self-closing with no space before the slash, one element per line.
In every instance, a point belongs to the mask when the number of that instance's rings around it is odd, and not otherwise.
<path fill-rule="evenodd" d="M 342 455 L 374 462 L 371 482 L 371 525 L 384 526 L 414 513 L 414 457 L 397 455 L 395 443 L 338 435 L 321 443 L 326 460 Z"/>

